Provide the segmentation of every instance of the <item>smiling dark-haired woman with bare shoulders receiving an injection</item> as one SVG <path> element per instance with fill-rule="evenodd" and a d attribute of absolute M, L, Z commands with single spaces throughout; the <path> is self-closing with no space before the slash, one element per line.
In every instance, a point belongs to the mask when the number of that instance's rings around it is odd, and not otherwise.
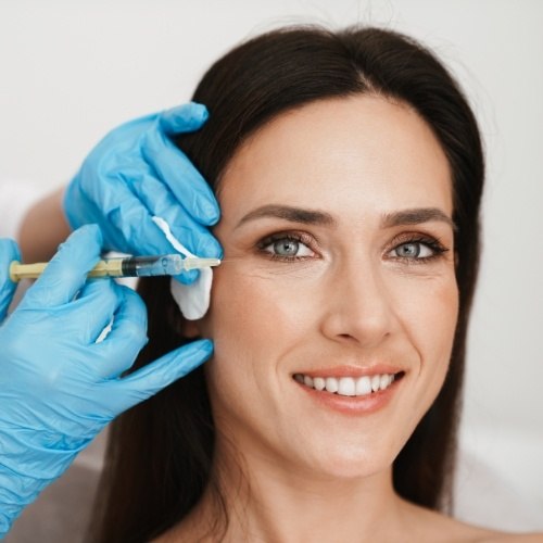
<path fill-rule="evenodd" d="M 114 424 L 92 541 L 505 536 L 435 513 L 483 182 L 454 80 L 391 31 L 291 28 L 232 50 L 193 99 L 210 121 L 177 143 L 217 195 L 225 261 L 201 320 L 167 281 L 140 286 L 137 367 L 195 337 L 215 352 Z"/>

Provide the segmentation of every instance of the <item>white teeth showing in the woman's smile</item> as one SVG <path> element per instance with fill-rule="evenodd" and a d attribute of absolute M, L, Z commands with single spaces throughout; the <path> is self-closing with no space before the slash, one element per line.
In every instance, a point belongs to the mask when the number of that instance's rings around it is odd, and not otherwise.
<path fill-rule="evenodd" d="M 294 374 L 293 378 L 299 383 L 318 392 L 329 392 L 340 396 L 368 396 L 379 391 L 387 390 L 394 381 L 404 376 L 397 374 L 376 374 L 363 377 L 310 377 Z"/>

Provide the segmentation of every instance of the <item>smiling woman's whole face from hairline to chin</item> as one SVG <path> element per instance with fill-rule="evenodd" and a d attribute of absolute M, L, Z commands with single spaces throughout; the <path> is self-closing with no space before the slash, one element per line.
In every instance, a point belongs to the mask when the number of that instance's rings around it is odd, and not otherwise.
<path fill-rule="evenodd" d="M 447 161 L 409 108 L 275 118 L 229 162 L 224 263 L 197 324 L 217 428 L 303 473 L 390 467 L 438 394 L 457 318 Z"/>

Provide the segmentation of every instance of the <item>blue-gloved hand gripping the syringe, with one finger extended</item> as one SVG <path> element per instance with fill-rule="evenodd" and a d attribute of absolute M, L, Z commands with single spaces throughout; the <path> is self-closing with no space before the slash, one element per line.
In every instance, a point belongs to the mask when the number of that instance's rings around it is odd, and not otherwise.
<path fill-rule="evenodd" d="M 75 231 L 0 327 L 0 539 L 108 422 L 212 352 L 211 341 L 194 341 L 121 378 L 147 342 L 147 313 L 127 287 L 85 282 L 100 245 L 96 225 Z M 4 282 L 16 256 L 5 247 Z M 109 336 L 96 343 L 112 317 Z"/>

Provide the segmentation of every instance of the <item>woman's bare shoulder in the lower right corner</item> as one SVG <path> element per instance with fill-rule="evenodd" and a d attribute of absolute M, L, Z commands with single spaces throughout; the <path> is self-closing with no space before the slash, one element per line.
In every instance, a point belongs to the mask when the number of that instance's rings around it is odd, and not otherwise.
<path fill-rule="evenodd" d="M 434 543 L 543 543 L 543 533 L 510 533 L 469 525 L 413 504 L 406 510 L 417 518 L 417 541 Z"/>

